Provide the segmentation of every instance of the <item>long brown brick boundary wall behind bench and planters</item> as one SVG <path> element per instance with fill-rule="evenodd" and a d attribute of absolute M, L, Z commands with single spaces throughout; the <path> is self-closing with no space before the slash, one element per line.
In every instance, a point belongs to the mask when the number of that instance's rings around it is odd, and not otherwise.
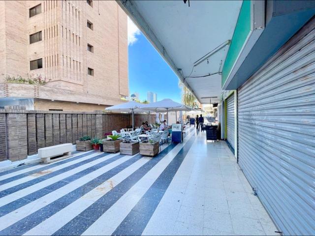
<path fill-rule="evenodd" d="M 151 121 L 155 116 L 151 115 Z M 148 121 L 148 115 L 135 115 L 135 125 Z M 22 160 L 38 148 L 72 143 L 85 135 L 104 133 L 131 125 L 130 114 L 95 112 L 29 111 L 19 107 L 0 110 L 0 161 Z"/>

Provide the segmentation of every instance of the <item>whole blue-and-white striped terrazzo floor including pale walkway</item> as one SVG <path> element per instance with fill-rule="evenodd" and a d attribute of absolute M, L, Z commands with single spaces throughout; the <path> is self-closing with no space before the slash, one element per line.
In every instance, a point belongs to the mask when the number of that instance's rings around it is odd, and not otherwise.
<path fill-rule="evenodd" d="M 0 235 L 266 235 L 273 230 L 226 144 L 207 144 L 194 127 L 183 143 L 163 145 L 154 158 L 73 154 L 50 165 L 0 173 Z M 259 215 L 238 215 L 241 223 L 234 226 L 232 190 L 254 201 L 242 204 L 255 204 Z"/>

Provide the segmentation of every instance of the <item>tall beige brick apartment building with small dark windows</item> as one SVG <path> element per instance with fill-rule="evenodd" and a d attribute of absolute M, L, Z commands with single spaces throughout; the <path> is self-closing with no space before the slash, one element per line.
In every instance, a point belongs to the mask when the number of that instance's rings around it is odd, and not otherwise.
<path fill-rule="evenodd" d="M 2 0 L 0 107 L 94 111 L 118 104 L 128 95 L 127 46 L 127 16 L 116 1 Z M 47 83 L 16 83 L 18 76 Z"/>

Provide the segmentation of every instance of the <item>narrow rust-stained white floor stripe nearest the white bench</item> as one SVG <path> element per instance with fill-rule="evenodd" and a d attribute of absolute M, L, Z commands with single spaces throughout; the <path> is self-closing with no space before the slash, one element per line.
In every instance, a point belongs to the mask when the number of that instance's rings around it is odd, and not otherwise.
<path fill-rule="evenodd" d="M 5 189 L 8 189 L 10 187 L 13 187 L 15 185 L 18 185 L 18 184 L 21 184 L 21 183 L 25 183 L 29 180 L 32 180 L 32 179 L 35 179 L 37 177 L 41 177 L 41 176 L 44 176 L 44 175 L 47 175 L 49 173 L 52 173 L 54 171 L 57 171 L 57 170 L 60 170 L 64 167 L 67 167 L 67 166 L 70 166 L 70 165 L 73 165 L 73 164 L 76 164 L 78 162 L 81 162 L 81 161 L 84 161 L 84 160 L 87 160 L 87 159 L 90 159 L 96 155 L 99 155 L 100 152 L 95 152 L 95 153 L 91 153 L 91 155 L 88 155 L 88 156 L 85 156 L 85 157 L 82 157 L 82 158 L 79 158 L 77 160 L 73 160 L 73 161 L 70 161 L 70 162 L 67 162 L 67 163 L 64 163 L 60 166 L 55 166 L 55 167 L 52 167 L 51 169 L 47 169 L 47 170 L 44 170 L 44 171 L 41 171 L 41 172 L 38 172 L 38 173 L 35 173 L 35 174 L 32 174 L 31 176 L 27 176 L 27 177 L 23 177 L 23 178 L 19 178 L 17 180 L 14 180 L 14 181 L 11 181 L 9 183 L 5 183 L 5 184 L 2 184 L 0 186 L 0 191 L 3 191 Z"/>

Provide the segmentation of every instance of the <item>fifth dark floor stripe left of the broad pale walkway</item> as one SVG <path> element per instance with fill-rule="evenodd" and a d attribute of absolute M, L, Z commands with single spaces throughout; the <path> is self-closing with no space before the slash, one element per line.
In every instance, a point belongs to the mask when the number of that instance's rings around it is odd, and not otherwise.
<path fill-rule="evenodd" d="M 56 171 L 54 171 L 54 172 L 52 172 L 52 173 L 49 173 L 49 174 L 46 174 L 46 175 L 44 175 L 44 176 L 34 178 L 34 179 L 29 180 L 29 181 L 26 181 L 26 182 L 24 182 L 24 183 L 20 183 L 20 184 L 18 184 L 18 185 L 13 186 L 13 187 L 7 188 L 7 189 L 5 189 L 5 190 L 3 190 L 3 191 L 1 191 L 1 192 L 5 193 L 5 194 L 7 194 L 7 195 L 8 195 L 8 194 L 15 193 L 15 192 L 20 191 L 20 190 L 22 190 L 22 189 L 24 189 L 24 188 L 30 187 L 30 186 L 32 186 L 32 185 L 34 185 L 34 184 L 36 184 L 36 183 L 40 183 L 40 182 L 42 182 L 42 181 L 44 181 L 44 180 L 46 180 L 46 179 L 49 179 L 49 178 L 51 178 L 51 177 L 55 177 L 55 176 L 61 175 L 61 174 L 65 173 L 65 172 L 67 172 L 67 171 L 73 170 L 73 169 L 75 169 L 75 168 L 77 168 L 77 167 L 80 167 L 80 166 L 82 166 L 82 165 L 84 165 L 84 164 L 87 164 L 87 163 L 90 163 L 90 162 L 92 162 L 92 161 L 95 161 L 95 160 L 97 160 L 97 159 L 99 159 L 99 158 L 101 158 L 101 157 L 103 157 L 103 156 L 107 156 L 107 155 L 109 155 L 109 154 L 110 154 L 110 153 L 99 152 L 99 154 L 97 154 L 97 155 L 94 156 L 94 157 L 91 157 L 91 158 L 89 158 L 89 159 L 80 161 L 80 162 L 78 162 L 78 163 L 72 164 L 72 165 L 67 166 L 67 167 L 64 167 L 64 168 L 62 168 L 62 169 L 60 169 L 60 170 L 56 170 Z M 0 193 L 1 193 L 1 192 L 0 192 Z"/>

